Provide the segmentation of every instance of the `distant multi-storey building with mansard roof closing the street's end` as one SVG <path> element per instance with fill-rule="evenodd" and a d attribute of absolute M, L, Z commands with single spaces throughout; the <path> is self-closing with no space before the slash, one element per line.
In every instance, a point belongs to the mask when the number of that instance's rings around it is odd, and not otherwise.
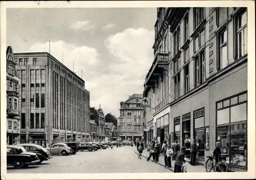
<path fill-rule="evenodd" d="M 120 102 L 119 138 L 135 141 L 143 139 L 142 94 L 133 94 L 126 101 Z"/>

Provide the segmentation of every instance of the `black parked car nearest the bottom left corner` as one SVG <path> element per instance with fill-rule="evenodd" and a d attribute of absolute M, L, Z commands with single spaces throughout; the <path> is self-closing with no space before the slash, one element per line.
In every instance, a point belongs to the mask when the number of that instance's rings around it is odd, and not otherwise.
<path fill-rule="evenodd" d="M 13 165 L 15 168 L 28 167 L 30 164 L 40 162 L 40 159 L 34 152 L 27 152 L 22 146 L 7 146 L 7 165 Z"/>

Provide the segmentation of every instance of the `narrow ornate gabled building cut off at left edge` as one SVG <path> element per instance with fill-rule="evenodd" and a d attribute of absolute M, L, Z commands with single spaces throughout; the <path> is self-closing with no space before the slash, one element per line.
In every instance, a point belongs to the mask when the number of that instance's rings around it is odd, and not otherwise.
<path fill-rule="evenodd" d="M 12 47 L 8 46 L 6 50 L 6 124 L 9 145 L 20 142 L 20 78 L 16 67 Z"/>

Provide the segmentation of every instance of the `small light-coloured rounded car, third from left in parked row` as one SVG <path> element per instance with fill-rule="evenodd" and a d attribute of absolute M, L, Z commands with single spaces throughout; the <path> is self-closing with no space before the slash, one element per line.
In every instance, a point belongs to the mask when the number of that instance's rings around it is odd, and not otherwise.
<path fill-rule="evenodd" d="M 53 144 L 49 146 L 49 148 L 46 148 L 46 150 L 48 150 L 51 153 L 51 155 L 61 154 L 62 156 L 68 156 L 70 153 L 73 153 L 73 150 L 71 149 L 71 147 L 69 147 L 65 143 Z"/>

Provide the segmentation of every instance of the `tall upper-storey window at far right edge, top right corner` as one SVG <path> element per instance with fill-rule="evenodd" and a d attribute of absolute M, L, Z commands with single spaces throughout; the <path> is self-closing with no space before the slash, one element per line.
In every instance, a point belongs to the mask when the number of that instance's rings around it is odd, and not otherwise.
<path fill-rule="evenodd" d="M 237 58 L 247 54 L 247 11 L 236 18 Z"/>

